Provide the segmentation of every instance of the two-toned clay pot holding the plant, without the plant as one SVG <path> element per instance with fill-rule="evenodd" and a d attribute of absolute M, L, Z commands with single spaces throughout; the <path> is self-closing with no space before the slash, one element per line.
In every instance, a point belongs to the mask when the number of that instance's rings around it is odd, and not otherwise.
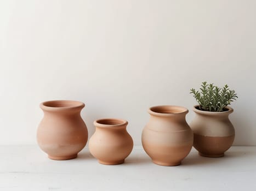
<path fill-rule="evenodd" d="M 233 109 L 226 107 L 227 111 L 212 112 L 198 110 L 190 127 L 194 131 L 194 147 L 203 157 L 223 157 L 234 139 L 235 129 L 229 121 L 229 114 Z"/>

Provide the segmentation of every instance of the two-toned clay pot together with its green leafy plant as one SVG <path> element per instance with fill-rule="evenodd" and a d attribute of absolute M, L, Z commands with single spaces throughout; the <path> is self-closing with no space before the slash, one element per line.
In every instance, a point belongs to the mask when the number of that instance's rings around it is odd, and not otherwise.
<path fill-rule="evenodd" d="M 235 129 L 229 120 L 233 109 L 227 105 L 236 100 L 237 94 L 225 85 L 223 88 L 202 82 L 200 91 L 190 89 L 199 105 L 190 127 L 194 132 L 194 144 L 203 157 L 223 157 L 235 139 Z"/>

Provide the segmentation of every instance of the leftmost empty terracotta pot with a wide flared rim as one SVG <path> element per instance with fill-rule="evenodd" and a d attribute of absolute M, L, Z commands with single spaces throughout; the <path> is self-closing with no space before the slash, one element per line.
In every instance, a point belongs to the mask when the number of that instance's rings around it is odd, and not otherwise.
<path fill-rule="evenodd" d="M 87 127 L 80 115 L 84 103 L 54 100 L 41 103 L 40 108 L 44 117 L 37 129 L 39 147 L 50 159 L 76 158 L 88 140 Z"/>

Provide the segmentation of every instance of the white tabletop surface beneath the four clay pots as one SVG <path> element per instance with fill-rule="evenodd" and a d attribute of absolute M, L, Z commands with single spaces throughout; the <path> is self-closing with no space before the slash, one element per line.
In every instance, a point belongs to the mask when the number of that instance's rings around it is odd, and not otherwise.
<path fill-rule="evenodd" d="M 180 166 L 153 164 L 134 147 L 121 165 L 101 165 L 87 148 L 50 160 L 38 146 L 0 146 L 0 190 L 256 190 L 256 147 L 234 146 L 222 158 L 193 149 Z"/>

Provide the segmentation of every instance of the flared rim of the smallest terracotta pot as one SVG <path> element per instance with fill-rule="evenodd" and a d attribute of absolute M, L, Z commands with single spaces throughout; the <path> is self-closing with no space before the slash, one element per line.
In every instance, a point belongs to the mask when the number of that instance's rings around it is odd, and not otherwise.
<path fill-rule="evenodd" d="M 95 127 L 111 128 L 111 127 L 126 127 L 128 121 L 121 118 L 101 118 L 93 122 Z"/>

